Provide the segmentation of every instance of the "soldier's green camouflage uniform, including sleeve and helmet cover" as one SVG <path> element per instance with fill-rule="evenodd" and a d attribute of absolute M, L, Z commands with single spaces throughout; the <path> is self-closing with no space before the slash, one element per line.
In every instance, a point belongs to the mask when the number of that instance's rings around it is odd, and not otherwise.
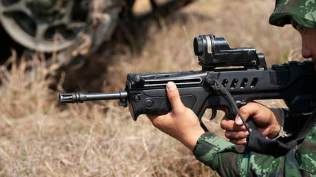
<path fill-rule="evenodd" d="M 302 27 L 315 29 L 316 0 L 277 0 L 269 23 L 284 26 L 291 23 L 291 19 Z M 311 118 L 316 119 L 316 113 Z M 285 130 L 289 130 L 286 128 L 289 124 L 295 126 L 295 123 L 287 123 Z M 211 132 L 205 132 L 199 138 L 193 154 L 221 176 L 316 176 L 316 126 L 286 156 L 275 158 L 256 152 L 245 153 L 242 146 L 229 143 Z"/>

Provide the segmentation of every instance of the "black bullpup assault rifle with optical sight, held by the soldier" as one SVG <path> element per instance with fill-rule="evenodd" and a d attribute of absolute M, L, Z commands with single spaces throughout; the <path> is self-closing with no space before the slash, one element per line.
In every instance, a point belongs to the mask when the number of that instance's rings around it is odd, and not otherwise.
<path fill-rule="evenodd" d="M 201 117 L 207 108 L 225 110 L 236 116 L 233 104 L 242 106 L 254 99 L 283 99 L 293 115 L 308 115 L 316 108 L 316 72 L 311 61 L 289 62 L 267 68 L 263 54 L 256 49 L 232 49 L 225 38 L 201 35 L 194 38 L 194 53 L 201 71 L 138 73 L 127 75 L 126 88 L 117 93 L 62 93 L 60 103 L 120 99 L 134 120 L 139 115 L 164 115 L 171 110 L 166 84 L 177 84 L 181 100 Z M 219 83 L 219 85 L 216 85 Z M 223 93 L 230 93 L 231 97 Z"/>

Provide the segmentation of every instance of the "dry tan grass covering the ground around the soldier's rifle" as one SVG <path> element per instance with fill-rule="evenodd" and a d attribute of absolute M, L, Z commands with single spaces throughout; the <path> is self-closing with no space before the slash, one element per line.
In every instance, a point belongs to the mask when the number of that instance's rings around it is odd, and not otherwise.
<path fill-rule="evenodd" d="M 102 89 L 124 88 L 126 73 L 199 69 L 192 50 L 199 34 L 224 36 L 232 47 L 256 47 L 268 64 L 292 60 L 300 38 L 291 27 L 268 25 L 273 5 L 199 0 L 159 19 L 160 28 L 147 30 L 142 52 L 111 55 L 117 62 L 98 78 Z M 0 176 L 216 176 L 146 117 L 135 122 L 116 102 L 58 106 L 41 57 L 19 64 L 14 59 L 10 71 L 0 71 Z M 210 124 L 216 132 L 218 121 Z"/>

